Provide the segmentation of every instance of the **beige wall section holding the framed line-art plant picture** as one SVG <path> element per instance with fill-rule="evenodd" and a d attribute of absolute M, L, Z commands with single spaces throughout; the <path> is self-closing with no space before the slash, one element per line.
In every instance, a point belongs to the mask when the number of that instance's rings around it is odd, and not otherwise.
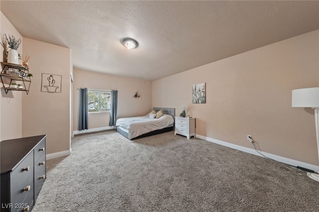
<path fill-rule="evenodd" d="M 68 48 L 23 38 L 33 74 L 22 96 L 22 136 L 47 134 L 47 154 L 70 149 L 70 57 Z M 62 76 L 61 93 L 41 92 L 41 74 Z M 59 86 L 59 85 L 57 85 Z"/>

